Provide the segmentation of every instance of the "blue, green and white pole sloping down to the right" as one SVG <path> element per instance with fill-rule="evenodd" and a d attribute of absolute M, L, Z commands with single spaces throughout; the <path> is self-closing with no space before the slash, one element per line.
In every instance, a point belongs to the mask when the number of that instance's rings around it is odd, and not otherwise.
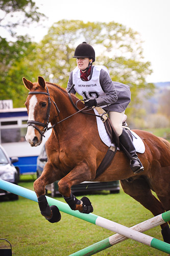
<path fill-rule="evenodd" d="M 37 202 L 37 196 L 36 196 L 35 192 L 30 189 L 15 185 L 13 183 L 10 183 L 10 182 L 4 181 L 4 180 L 0 180 L 0 188 L 10 191 L 11 193 L 16 194 L 18 196 L 25 197 L 27 199 Z M 140 233 L 139 231 L 136 231 L 132 228 L 128 228 L 128 227 L 118 224 L 116 222 L 107 220 L 98 215 L 81 214 L 81 212 L 79 212 L 78 210 L 76 210 L 76 211 L 71 210 L 70 207 L 66 203 L 63 203 L 56 199 L 53 199 L 53 198 L 50 198 L 47 196 L 46 196 L 46 199 L 47 199 L 47 202 L 49 205 L 56 205 L 60 211 L 65 212 L 66 214 L 77 217 L 79 219 L 90 222 L 92 224 L 98 225 L 100 227 L 106 228 L 106 229 L 116 232 L 118 234 L 122 234 L 122 236 L 124 236 L 126 238 L 131 238 L 137 242 L 151 246 L 155 249 L 161 250 L 166 253 L 170 253 L 170 244 L 168 244 L 168 243 L 165 243 L 163 241 L 160 241 L 158 239 L 150 237 L 147 234 Z M 167 214 L 167 212 L 165 214 Z M 167 217 L 166 217 L 166 219 L 167 219 Z M 167 220 L 166 220 L 166 222 L 167 222 Z M 74 254 L 72 254 L 72 255 L 74 255 Z M 92 255 L 92 254 L 89 254 L 89 255 Z"/>

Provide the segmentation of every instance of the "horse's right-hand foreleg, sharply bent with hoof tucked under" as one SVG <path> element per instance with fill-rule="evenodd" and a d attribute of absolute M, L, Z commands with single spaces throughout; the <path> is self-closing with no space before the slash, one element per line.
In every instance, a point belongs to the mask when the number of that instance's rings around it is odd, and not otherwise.
<path fill-rule="evenodd" d="M 94 177 L 91 177 L 91 172 L 87 163 L 83 162 L 72 169 L 69 174 L 59 181 L 59 192 L 63 195 L 63 198 L 72 210 L 79 210 L 85 214 L 89 214 L 93 211 L 91 202 L 87 197 L 78 200 L 71 193 L 72 185 L 80 184 L 83 181 L 89 181 L 91 179 L 94 179 Z"/>

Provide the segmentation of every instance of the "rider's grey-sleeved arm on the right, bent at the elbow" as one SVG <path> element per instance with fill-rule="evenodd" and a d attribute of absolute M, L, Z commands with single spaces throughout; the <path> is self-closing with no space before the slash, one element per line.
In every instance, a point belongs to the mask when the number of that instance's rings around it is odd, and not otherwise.
<path fill-rule="evenodd" d="M 109 74 L 105 70 L 101 70 L 100 74 L 100 84 L 103 91 L 106 93 L 104 96 L 99 96 L 96 98 L 97 104 L 113 104 L 117 101 L 117 93 L 114 87 L 113 81 L 111 80 Z"/>

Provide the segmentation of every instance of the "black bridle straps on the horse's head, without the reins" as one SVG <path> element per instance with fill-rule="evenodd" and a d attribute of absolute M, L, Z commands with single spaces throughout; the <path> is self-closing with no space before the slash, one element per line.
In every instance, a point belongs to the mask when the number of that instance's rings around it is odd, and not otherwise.
<path fill-rule="evenodd" d="M 34 121 L 34 120 L 28 120 L 27 124 L 28 126 L 33 126 L 40 134 L 41 136 L 45 137 L 44 136 L 44 133 L 50 129 L 52 129 L 56 124 L 52 125 L 51 127 L 48 127 L 48 124 L 49 124 L 49 119 L 50 119 L 50 109 L 51 109 L 51 98 L 50 98 L 50 93 L 48 91 L 48 88 L 46 86 L 46 93 L 45 92 L 29 92 L 29 94 L 44 94 L 44 95 L 47 95 L 48 96 L 48 106 L 47 106 L 47 112 L 46 112 L 46 117 L 44 119 L 44 122 L 41 123 L 41 122 L 38 122 L 38 121 Z M 52 100 L 53 101 L 53 100 Z M 58 112 L 58 115 L 60 113 L 56 103 L 53 101 L 56 109 L 57 109 L 57 112 Z M 39 125 L 39 126 L 42 126 L 44 127 L 43 131 L 41 132 L 40 129 L 36 126 L 36 125 Z"/>

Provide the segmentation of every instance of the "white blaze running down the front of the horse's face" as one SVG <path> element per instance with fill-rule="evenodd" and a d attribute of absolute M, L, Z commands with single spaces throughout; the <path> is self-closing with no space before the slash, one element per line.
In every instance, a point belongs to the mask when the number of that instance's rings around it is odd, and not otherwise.
<path fill-rule="evenodd" d="M 37 104 L 37 97 L 36 95 L 33 95 L 29 101 L 29 118 L 28 120 L 32 120 L 35 121 L 34 119 L 34 110 L 35 110 L 35 106 Z M 34 144 L 33 145 L 33 140 L 35 138 L 35 129 L 33 126 L 28 126 L 27 129 L 27 134 L 26 134 L 26 140 L 31 144 L 31 146 L 38 146 L 39 144 Z"/>

